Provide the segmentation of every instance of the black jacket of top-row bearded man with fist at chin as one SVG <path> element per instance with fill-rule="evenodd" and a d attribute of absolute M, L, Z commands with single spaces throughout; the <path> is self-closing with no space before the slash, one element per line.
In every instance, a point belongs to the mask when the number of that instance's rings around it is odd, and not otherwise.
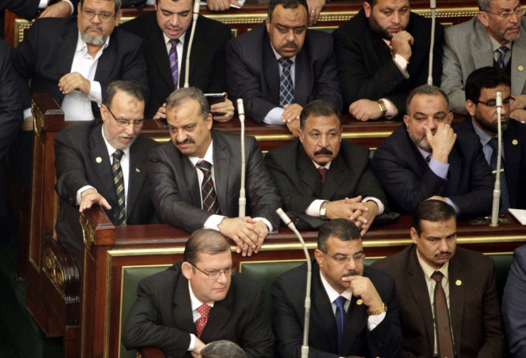
<path fill-rule="evenodd" d="M 363 9 L 332 33 L 345 111 L 352 102 L 362 98 L 372 101 L 387 98 L 398 108 L 400 116 L 405 113 L 405 100 L 410 91 L 427 83 L 431 21 L 411 13 L 406 30 L 415 39 L 406 73 L 392 61 L 389 47 L 372 31 Z M 443 37 L 443 26 L 436 24 L 433 48 L 433 83 L 436 85 L 440 84 L 442 73 Z"/>

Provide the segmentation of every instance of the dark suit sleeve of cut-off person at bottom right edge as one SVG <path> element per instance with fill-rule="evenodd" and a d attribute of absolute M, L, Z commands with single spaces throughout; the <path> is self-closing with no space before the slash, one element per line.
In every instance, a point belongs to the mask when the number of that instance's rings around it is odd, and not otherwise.
<path fill-rule="evenodd" d="M 502 319 L 507 345 L 513 357 L 526 357 L 526 245 L 513 252 L 513 263 L 502 296 Z"/>

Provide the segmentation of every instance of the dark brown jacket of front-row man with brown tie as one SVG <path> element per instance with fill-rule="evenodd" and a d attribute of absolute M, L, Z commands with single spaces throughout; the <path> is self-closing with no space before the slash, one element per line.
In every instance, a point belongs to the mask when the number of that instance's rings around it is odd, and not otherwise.
<path fill-rule="evenodd" d="M 410 245 L 372 267 L 389 273 L 396 282 L 404 336 L 402 357 L 433 357 L 432 305 L 416 249 Z M 502 357 L 505 341 L 493 260 L 457 246 L 448 273 L 457 357 Z"/>

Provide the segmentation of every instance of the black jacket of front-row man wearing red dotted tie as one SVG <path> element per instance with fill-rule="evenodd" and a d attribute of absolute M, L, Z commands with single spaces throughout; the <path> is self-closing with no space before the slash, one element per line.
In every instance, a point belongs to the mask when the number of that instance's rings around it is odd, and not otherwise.
<path fill-rule="evenodd" d="M 160 347 L 169 357 L 192 357 L 190 334 L 195 334 L 189 282 L 182 261 L 139 282 L 122 328 L 126 349 Z M 224 300 L 214 302 L 200 339 L 206 344 L 227 339 L 239 344 L 248 357 L 272 357 L 274 337 L 264 315 L 263 289 L 242 274 L 232 276 Z"/>

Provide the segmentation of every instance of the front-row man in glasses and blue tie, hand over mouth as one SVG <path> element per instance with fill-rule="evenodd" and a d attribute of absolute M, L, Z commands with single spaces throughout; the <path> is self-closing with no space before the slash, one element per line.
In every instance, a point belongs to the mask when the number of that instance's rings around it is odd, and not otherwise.
<path fill-rule="evenodd" d="M 398 357 L 402 332 L 394 280 L 364 267 L 359 230 L 335 219 L 319 230 L 312 260 L 309 357 Z M 272 327 L 283 358 L 301 357 L 307 264 L 272 284 Z"/>

